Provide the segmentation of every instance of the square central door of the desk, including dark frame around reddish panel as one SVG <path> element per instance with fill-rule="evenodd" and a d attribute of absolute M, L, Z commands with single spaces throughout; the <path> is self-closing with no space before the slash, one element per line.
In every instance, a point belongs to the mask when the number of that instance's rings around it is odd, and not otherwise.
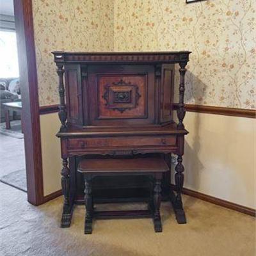
<path fill-rule="evenodd" d="M 154 124 L 154 66 L 88 66 L 90 124 Z"/>

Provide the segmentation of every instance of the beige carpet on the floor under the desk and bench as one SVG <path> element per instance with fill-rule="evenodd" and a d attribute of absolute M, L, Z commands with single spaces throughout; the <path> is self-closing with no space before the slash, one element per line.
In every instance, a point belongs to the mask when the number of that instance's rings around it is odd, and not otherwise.
<path fill-rule="evenodd" d="M 61 197 L 34 207 L 26 193 L 6 184 L 0 184 L 0 195 L 4 256 L 255 256 L 255 218 L 189 196 L 184 196 L 186 225 L 178 225 L 164 203 L 163 233 L 154 233 L 150 219 L 97 220 L 93 234 L 84 236 L 83 206 L 76 207 L 72 226 L 61 229 Z"/>

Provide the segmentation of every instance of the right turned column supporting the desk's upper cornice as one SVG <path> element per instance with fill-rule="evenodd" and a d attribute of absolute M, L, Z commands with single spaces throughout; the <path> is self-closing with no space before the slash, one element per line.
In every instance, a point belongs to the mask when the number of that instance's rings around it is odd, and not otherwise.
<path fill-rule="evenodd" d="M 184 129 L 183 119 L 186 114 L 185 108 L 184 108 L 184 93 L 185 93 L 185 74 L 187 69 L 185 68 L 187 65 L 187 62 L 180 62 L 179 63 L 180 68 L 180 84 L 179 84 L 179 104 L 177 108 L 177 116 L 179 118 L 179 124 L 178 129 Z"/>

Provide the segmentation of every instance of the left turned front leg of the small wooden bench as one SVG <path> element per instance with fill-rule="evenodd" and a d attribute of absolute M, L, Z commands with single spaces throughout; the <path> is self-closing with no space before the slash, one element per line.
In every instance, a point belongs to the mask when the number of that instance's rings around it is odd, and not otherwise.
<path fill-rule="evenodd" d="M 93 200 L 92 177 L 90 175 L 84 175 L 84 204 L 86 207 L 84 234 L 92 234 Z"/>

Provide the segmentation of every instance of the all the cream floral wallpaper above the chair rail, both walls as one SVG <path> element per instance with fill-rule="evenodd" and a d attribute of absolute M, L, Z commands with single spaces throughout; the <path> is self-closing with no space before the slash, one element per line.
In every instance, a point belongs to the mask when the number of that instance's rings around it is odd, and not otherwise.
<path fill-rule="evenodd" d="M 186 102 L 254 109 L 255 5 L 255 0 L 33 0 L 40 105 L 58 103 L 51 51 L 189 50 Z"/>

